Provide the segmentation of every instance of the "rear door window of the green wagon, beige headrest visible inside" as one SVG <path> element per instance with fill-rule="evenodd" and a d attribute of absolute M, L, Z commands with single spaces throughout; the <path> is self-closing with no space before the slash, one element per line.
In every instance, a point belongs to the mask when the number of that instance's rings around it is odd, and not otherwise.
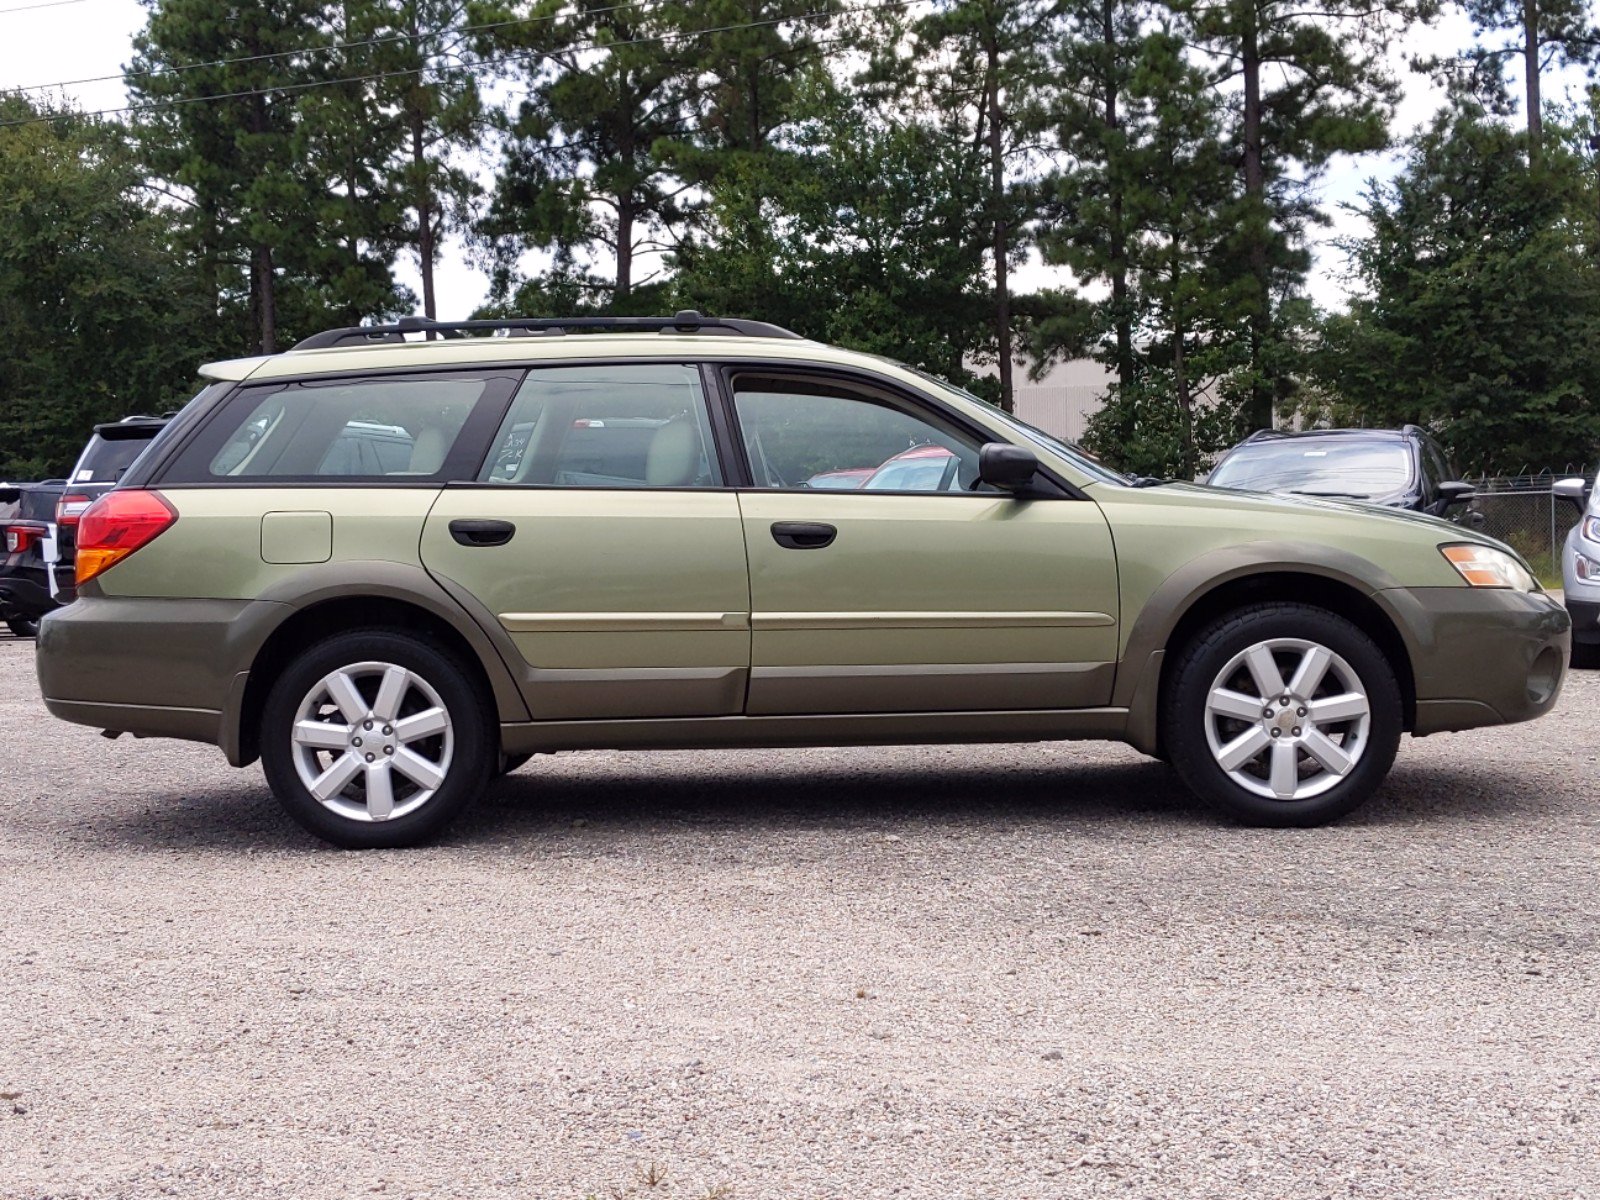
<path fill-rule="evenodd" d="M 707 488 L 722 483 L 699 370 L 677 363 L 530 371 L 483 472 L 486 483 Z"/>

